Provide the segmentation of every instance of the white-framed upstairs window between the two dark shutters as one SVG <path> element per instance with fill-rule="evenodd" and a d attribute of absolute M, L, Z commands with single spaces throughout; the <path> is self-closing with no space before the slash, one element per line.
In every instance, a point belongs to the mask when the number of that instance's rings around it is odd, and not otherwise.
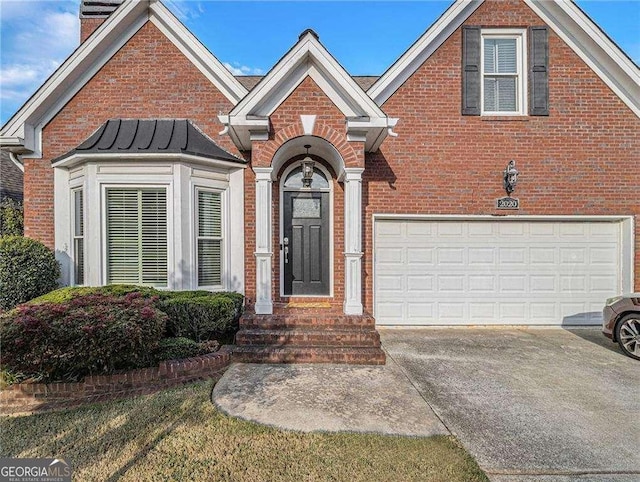
<path fill-rule="evenodd" d="M 482 30 L 482 113 L 526 113 L 524 30 Z"/>

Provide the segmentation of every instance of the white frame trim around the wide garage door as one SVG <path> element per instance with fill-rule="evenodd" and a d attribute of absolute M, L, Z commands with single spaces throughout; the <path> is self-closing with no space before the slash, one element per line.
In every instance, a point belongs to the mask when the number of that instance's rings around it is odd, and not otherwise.
<path fill-rule="evenodd" d="M 371 215 L 371 310 L 375 317 L 376 310 L 376 222 L 383 220 L 396 221 L 495 221 L 495 222 L 618 222 L 620 229 L 620 280 L 624 293 L 633 292 L 635 283 L 635 216 L 630 215 L 543 215 L 543 214 L 522 214 L 512 216 L 495 216 L 491 214 L 396 214 L 396 213 L 374 213 Z M 460 325 L 465 326 L 465 325 Z M 533 325 L 530 325 L 533 326 Z"/>

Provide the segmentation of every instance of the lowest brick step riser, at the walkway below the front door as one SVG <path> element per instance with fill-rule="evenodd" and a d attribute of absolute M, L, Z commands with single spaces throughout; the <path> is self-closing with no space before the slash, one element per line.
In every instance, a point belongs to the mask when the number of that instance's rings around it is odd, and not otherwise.
<path fill-rule="evenodd" d="M 384 365 L 385 355 L 382 350 L 379 354 L 335 354 L 322 353 L 279 353 L 279 352 L 234 352 L 231 356 L 232 362 L 237 363 L 340 363 L 350 365 Z"/>

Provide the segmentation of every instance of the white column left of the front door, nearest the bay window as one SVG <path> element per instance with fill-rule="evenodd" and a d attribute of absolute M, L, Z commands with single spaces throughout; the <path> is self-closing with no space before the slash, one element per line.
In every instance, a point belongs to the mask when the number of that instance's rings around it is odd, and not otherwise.
<path fill-rule="evenodd" d="M 257 314 L 273 313 L 271 298 L 271 167 L 255 167 L 256 173 L 256 304 Z"/>

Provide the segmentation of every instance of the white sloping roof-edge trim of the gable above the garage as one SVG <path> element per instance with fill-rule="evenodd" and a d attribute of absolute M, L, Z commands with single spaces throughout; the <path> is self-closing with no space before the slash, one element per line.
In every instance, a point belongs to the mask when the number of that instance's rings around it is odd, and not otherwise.
<path fill-rule="evenodd" d="M 383 105 L 484 0 L 457 0 L 367 91 Z M 640 70 L 571 0 L 524 0 L 640 117 Z"/>

